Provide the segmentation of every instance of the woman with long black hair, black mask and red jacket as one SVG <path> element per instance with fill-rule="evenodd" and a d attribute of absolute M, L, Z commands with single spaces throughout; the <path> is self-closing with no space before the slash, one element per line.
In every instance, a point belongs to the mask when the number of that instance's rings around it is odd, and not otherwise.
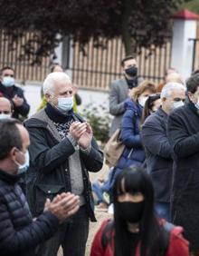
<path fill-rule="evenodd" d="M 183 228 L 157 220 L 152 182 L 141 167 L 118 174 L 113 189 L 114 221 L 95 235 L 90 256 L 188 256 Z"/>

